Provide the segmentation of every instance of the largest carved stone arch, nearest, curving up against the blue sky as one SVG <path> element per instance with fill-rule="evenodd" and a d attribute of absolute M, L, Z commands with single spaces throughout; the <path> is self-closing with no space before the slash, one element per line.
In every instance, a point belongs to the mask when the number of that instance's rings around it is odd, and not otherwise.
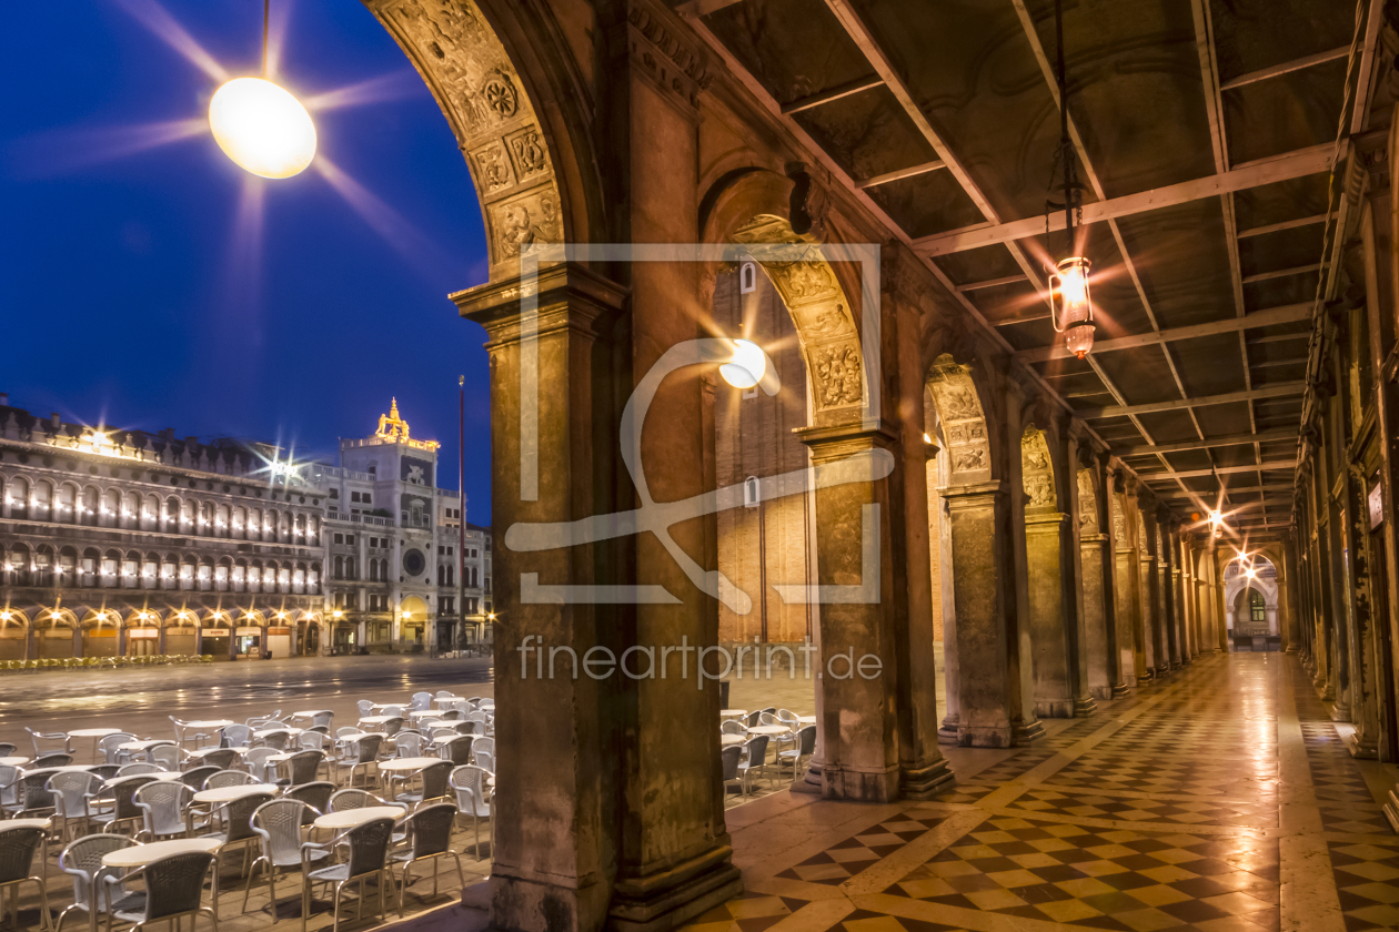
<path fill-rule="evenodd" d="M 547 13 L 499 0 L 365 0 L 436 98 L 485 222 L 490 279 L 520 250 L 589 242 L 602 198 L 571 60 Z M 508 48 L 509 46 L 509 48 Z M 516 61 L 525 67 L 518 67 Z M 536 75 L 544 87 L 536 87 Z M 540 102 L 548 106 L 540 106 Z"/>

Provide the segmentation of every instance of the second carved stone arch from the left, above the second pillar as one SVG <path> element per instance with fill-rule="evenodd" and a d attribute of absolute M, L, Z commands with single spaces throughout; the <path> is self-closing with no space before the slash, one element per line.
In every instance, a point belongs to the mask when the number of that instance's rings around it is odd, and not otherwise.
<path fill-rule="evenodd" d="M 831 243 L 828 231 L 806 217 L 806 205 L 793 197 L 796 190 L 792 177 L 758 168 L 719 179 L 702 198 L 701 242 L 739 243 L 744 250 L 727 261 L 706 261 L 705 281 L 712 289 L 723 267 L 746 257 L 762 267 L 796 328 L 811 391 L 811 422 L 846 423 L 860 416 L 877 388 L 869 381 L 859 303 L 852 300 L 860 293 L 859 281 L 851 263 L 831 263 L 820 249 Z M 877 352 L 877 347 L 870 349 Z"/>

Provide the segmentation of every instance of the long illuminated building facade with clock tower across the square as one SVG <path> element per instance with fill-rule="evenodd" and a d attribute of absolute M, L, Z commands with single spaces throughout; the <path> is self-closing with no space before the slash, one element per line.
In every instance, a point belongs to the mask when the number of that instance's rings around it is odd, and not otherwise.
<path fill-rule="evenodd" d="M 332 465 L 42 419 L 0 395 L 0 661 L 478 640 L 490 531 L 467 525 L 463 574 L 464 503 L 434 486 L 436 449 L 396 404 Z"/>

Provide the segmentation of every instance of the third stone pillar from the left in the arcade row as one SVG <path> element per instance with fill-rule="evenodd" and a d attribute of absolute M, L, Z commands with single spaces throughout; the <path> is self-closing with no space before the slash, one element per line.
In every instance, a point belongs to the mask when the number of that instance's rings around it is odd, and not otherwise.
<path fill-rule="evenodd" d="M 957 743 L 1011 745 L 1010 632 L 1006 597 L 1013 591 L 1006 546 L 1009 516 L 1000 482 L 949 486 L 951 556 L 957 599 L 958 669 L 975 671 L 957 685 Z"/>

